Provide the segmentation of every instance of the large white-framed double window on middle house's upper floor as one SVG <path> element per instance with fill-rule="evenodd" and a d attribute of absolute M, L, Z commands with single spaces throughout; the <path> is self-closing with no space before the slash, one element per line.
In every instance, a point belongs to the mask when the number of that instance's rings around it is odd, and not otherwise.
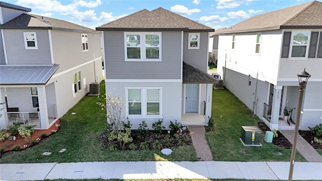
<path fill-rule="evenodd" d="M 125 61 L 161 61 L 161 33 L 124 33 Z"/>

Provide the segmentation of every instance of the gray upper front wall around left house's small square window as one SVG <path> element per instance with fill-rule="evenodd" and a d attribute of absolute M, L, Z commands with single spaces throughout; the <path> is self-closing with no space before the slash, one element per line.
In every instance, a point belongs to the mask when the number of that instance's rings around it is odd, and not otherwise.
<path fill-rule="evenodd" d="M 36 32 L 38 49 L 26 49 L 24 32 Z M 51 64 L 48 30 L 4 30 L 8 64 Z"/>

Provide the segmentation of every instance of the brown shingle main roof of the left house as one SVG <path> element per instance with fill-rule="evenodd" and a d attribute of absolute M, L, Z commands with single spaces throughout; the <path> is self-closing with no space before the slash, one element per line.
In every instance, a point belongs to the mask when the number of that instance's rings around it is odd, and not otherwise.
<path fill-rule="evenodd" d="M 94 31 L 93 29 L 66 22 L 64 20 L 25 13 L 1 25 L 1 29 L 69 29 Z"/>

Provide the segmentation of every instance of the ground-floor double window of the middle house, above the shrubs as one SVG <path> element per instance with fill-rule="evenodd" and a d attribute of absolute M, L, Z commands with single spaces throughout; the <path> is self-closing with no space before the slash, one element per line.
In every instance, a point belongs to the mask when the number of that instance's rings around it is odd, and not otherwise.
<path fill-rule="evenodd" d="M 160 87 L 127 87 L 126 105 L 128 116 L 153 117 L 161 116 Z"/>

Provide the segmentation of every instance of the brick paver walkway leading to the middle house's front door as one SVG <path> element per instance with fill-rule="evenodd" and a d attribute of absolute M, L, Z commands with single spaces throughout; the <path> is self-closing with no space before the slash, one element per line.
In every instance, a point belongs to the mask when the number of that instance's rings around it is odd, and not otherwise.
<path fill-rule="evenodd" d="M 203 126 L 188 126 L 188 128 L 199 160 L 212 161 L 213 157 L 205 137 L 205 128 Z"/>

